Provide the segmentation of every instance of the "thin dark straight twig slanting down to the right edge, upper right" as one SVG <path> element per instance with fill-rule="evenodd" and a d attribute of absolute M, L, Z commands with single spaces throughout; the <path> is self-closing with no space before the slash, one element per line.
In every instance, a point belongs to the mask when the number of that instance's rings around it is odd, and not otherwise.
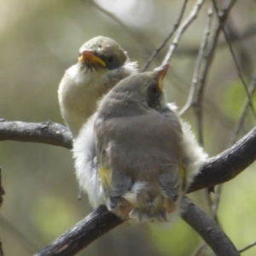
<path fill-rule="evenodd" d="M 222 12 L 219 12 L 216 0 L 212 0 L 212 3 L 213 3 L 213 6 L 214 6 L 214 9 L 216 11 L 216 14 L 218 16 L 218 20 L 219 20 L 219 22 L 221 22 L 221 20 L 222 20 Z M 231 53 L 231 55 L 233 57 L 235 65 L 236 65 L 236 70 L 237 70 L 238 77 L 240 78 L 241 84 L 243 85 L 243 87 L 244 87 L 244 89 L 245 89 L 245 91 L 247 93 L 247 97 L 248 97 L 248 101 L 249 101 L 249 106 L 252 109 L 254 118 L 256 119 L 256 113 L 255 113 L 255 109 L 253 107 L 252 97 L 250 96 L 250 93 L 249 93 L 249 90 L 248 90 L 248 87 L 247 87 L 247 83 L 246 83 L 246 81 L 244 80 L 244 78 L 243 78 L 243 76 L 241 74 L 241 68 L 239 67 L 238 61 L 236 60 L 236 55 L 234 53 L 234 49 L 232 47 L 232 44 L 230 43 L 230 38 L 229 38 L 227 32 L 225 31 L 224 26 L 222 26 L 221 29 L 222 29 L 222 31 L 224 33 L 224 38 L 225 38 L 226 42 L 229 45 L 230 53 Z"/>

